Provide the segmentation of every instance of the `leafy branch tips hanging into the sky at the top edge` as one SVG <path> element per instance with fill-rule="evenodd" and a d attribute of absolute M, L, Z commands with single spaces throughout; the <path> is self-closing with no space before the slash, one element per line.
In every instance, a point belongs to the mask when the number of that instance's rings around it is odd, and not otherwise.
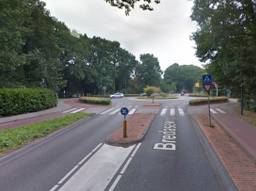
<path fill-rule="evenodd" d="M 160 0 L 105 0 L 107 3 L 119 9 L 125 9 L 125 14 L 128 15 L 135 7 L 135 4 L 139 4 L 142 10 L 152 11 L 152 4 L 159 4 Z"/>

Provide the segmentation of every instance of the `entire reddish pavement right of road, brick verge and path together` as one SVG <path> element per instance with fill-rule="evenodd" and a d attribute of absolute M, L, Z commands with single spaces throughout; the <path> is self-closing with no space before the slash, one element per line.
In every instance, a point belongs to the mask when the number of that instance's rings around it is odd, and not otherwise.
<path fill-rule="evenodd" d="M 205 113 L 194 117 L 237 189 L 255 191 L 256 128 L 234 112 L 212 115 L 214 128 Z"/>

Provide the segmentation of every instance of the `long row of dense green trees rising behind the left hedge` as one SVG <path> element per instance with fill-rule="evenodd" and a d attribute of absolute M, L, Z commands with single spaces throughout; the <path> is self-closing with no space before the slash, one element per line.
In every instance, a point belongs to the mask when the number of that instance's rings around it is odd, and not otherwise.
<path fill-rule="evenodd" d="M 71 31 L 41 0 L 0 1 L 0 44 L 0 88 L 46 87 L 60 96 L 135 93 L 143 90 L 140 83 L 160 80 L 153 55 L 142 55 L 140 63 L 119 42 Z"/>

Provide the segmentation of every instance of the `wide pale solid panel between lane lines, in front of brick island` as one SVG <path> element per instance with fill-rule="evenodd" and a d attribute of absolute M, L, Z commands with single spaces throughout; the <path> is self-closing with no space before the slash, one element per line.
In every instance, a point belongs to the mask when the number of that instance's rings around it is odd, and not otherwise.
<path fill-rule="evenodd" d="M 104 190 L 134 146 L 104 144 L 61 188 L 60 191 Z"/>

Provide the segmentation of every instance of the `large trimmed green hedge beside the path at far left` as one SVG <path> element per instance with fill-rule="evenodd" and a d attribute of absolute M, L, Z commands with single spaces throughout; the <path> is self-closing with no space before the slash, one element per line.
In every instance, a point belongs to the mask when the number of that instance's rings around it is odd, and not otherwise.
<path fill-rule="evenodd" d="M 0 116 L 40 111 L 57 105 L 55 93 L 42 88 L 0 89 Z"/>

